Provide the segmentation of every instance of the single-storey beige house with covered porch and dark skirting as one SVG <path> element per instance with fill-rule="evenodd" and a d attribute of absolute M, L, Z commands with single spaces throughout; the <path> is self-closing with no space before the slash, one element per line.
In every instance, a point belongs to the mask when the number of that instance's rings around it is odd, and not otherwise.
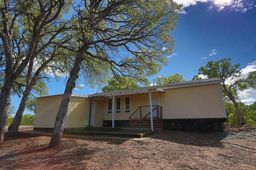
<path fill-rule="evenodd" d="M 128 90 L 72 94 L 65 129 L 150 127 L 221 131 L 226 121 L 220 78 Z M 54 128 L 62 95 L 37 98 L 34 129 Z"/>

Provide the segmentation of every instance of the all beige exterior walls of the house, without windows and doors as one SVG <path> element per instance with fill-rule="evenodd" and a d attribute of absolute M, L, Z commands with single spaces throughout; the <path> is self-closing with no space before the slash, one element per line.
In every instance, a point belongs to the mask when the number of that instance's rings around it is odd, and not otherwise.
<path fill-rule="evenodd" d="M 163 119 L 219 119 L 226 118 L 219 84 L 191 86 L 166 89 L 165 92 L 152 92 L 152 105 L 162 106 Z M 125 112 L 125 97 L 130 97 L 130 113 Z M 140 106 L 149 105 L 149 94 L 132 94 L 115 96 L 121 98 L 121 113 L 114 113 L 114 119 L 127 123 L 130 115 Z M 109 98 L 92 98 L 95 103 L 94 127 L 103 127 L 103 121 L 112 120 L 112 114 L 107 114 Z M 34 128 L 54 128 L 54 123 L 62 95 L 38 98 Z M 71 97 L 68 117 L 64 128 L 86 127 L 88 102 L 90 98 Z M 148 107 L 142 107 L 142 117 L 149 112 Z M 132 116 L 140 118 L 140 110 Z M 112 123 L 111 123 L 112 124 Z"/>

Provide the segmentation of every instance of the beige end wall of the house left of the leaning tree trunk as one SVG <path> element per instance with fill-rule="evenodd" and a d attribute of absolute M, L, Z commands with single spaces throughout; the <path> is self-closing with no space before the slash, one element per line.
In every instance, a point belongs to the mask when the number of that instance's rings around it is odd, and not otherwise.
<path fill-rule="evenodd" d="M 62 95 L 38 98 L 37 100 L 34 128 L 54 128 Z"/>

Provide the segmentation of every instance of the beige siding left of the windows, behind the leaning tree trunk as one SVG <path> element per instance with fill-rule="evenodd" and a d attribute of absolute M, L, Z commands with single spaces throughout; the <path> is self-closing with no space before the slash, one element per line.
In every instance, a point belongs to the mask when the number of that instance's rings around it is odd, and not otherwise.
<path fill-rule="evenodd" d="M 56 115 L 60 108 L 62 95 L 38 98 L 35 115 L 35 128 L 54 128 Z M 89 98 L 72 96 L 68 107 L 68 117 L 65 116 L 64 128 L 86 127 L 87 105 Z M 93 100 L 95 103 L 95 127 L 103 126 L 103 102 L 104 100 Z"/>

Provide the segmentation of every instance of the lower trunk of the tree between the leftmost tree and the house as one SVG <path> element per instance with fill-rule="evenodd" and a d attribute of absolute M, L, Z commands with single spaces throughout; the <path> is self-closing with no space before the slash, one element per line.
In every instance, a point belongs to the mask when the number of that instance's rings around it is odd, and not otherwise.
<path fill-rule="evenodd" d="M 12 124 L 8 127 L 8 136 L 9 137 L 14 137 L 18 133 L 18 128 L 20 126 L 22 115 L 26 108 L 26 104 L 28 102 L 28 98 L 29 98 L 31 90 L 32 90 L 32 88 L 26 88 L 26 90 L 23 93 L 18 111 L 16 112 L 16 115 L 12 121 Z"/>

